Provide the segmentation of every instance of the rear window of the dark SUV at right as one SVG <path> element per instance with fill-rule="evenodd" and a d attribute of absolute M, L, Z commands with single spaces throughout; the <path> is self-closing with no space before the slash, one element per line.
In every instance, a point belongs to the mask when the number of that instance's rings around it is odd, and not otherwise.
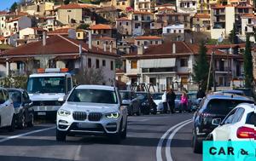
<path fill-rule="evenodd" d="M 240 103 L 252 103 L 252 101 L 212 99 L 207 105 L 207 112 L 226 115 Z"/>

